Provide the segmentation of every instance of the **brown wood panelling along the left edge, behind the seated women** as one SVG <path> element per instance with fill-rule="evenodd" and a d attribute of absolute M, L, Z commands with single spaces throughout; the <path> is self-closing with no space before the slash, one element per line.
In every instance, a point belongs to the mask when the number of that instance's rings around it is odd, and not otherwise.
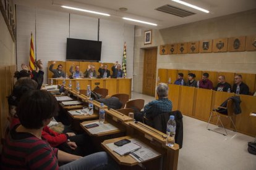
<path fill-rule="evenodd" d="M 7 96 L 11 94 L 14 86 L 14 72 L 16 65 L 0 67 L 0 139 L 4 137 L 7 127 L 7 116 L 9 113 Z"/>

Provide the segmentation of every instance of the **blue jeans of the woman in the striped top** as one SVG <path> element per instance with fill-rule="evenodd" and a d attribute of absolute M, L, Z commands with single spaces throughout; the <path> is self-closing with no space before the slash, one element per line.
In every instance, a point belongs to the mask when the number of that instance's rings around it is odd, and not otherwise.
<path fill-rule="evenodd" d="M 97 152 L 91 155 L 80 158 L 79 160 L 72 161 L 70 163 L 60 166 L 59 169 L 119 169 L 118 165 L 112 158 L 108 156 L 106 152 Z"/>

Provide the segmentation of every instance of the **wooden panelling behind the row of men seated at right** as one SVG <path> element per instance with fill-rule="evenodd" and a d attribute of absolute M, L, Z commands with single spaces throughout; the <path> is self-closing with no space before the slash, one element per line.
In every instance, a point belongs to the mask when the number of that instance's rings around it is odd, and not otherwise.
<path fill-rule="evenodd" d="M 234 75 L 242 75 L 242 81 L 249 86 L 250 94 L 254 94 L 256 91 L 256 74 L 251 73 L 228 73 L 228 72 L 218 72 L 218 71 L 200 71 L 200 70 L 174 70 L 174 69 L 158 69 L 158 77 L 160 82 L 167 83 L 168 79 L 171 78 L 171 83 L 177 79 L 177 73 L 184 74 L 184 80 L 187 82 L 187 74 L 194 73 L 196 75 L 195 80 L 198 81 L 202 79 L 203 73 L 209 73 L 209 79 L 213 82 L 213 87 L 218 84 L 218 76 L 224 75 L 226 77 L 226 82 L 233 86 Z"/>

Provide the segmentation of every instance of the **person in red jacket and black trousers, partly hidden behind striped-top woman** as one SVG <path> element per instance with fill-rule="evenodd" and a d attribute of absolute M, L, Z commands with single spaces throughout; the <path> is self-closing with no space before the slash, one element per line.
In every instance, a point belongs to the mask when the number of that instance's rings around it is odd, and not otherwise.
<path fill-rule="evenodd" d="M 16 124 L 19 124 L 19 118 L 16 114 L 16 107 L 25 92 L 35 90 L 37 83 L 30 78 L 20 78 L 14 85 L 12 94 L 8 97 L 10 107 L 9 120 L 11 129 Z M 57 107 L 58 108 L 58 107 Z M 49 129 L 48 126 L 43 127 L 41 135 L 47 140 L 51 147 L 59 148 L 60 150 L 74 155 L 85 156 L 93 153 L 93 144 L 85 134 L 75 135 L 73 132 L 59 134 Z M 87 147 L 90 145 L 90 147 Z"/>

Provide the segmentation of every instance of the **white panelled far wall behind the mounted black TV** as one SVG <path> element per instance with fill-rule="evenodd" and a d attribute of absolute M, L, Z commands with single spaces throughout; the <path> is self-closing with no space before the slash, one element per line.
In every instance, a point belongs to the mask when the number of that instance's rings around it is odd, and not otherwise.
<path fill-rule="evenodd" d="M 70 20 L 70 22 L 69 22 Z M 36 59 L 43 61 L 45 83 L 49 60 L 66 60 L 67 38 L 98 40 L 98 18 L 53 10 L 17 6 L 17 59 L 28 63 L 30 32 L 34 35 Z M 122 63 L 124 42 L 127 44 L 127 75 L 132 77 L 134 59 L 134 25 L 100 20 L 101 62 Z"/>

